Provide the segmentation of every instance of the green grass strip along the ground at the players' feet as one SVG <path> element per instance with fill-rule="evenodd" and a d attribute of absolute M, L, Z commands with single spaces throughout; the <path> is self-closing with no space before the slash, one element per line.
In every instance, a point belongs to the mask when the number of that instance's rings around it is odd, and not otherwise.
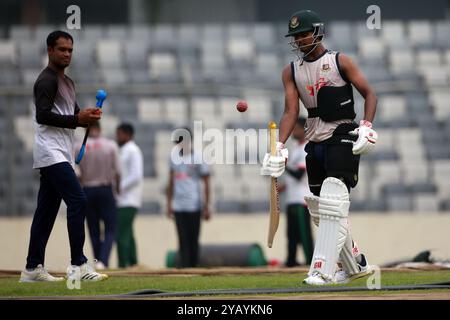
<path fill-rule="evenodd" d="M 214 276 L 112 276 L 96 283 L 81 283 L 80 290 L 69 290 L 66 282 L 19 283 L 18 277 L 0 278 L 0 297 L 79 296 L 121 294 L 143 289 L 160 291 L 197 291 L 214 289 L 295 288 L 303 286 L 304 274 L 254 274 Z M 353 281 L 349 286 L 365 286 L 367 278 Z M 407 285 L 450 281 L 450 271 L 387 271 L 381 274 L 381 284 Z M 421 292 L 423 292 L 421 290 Z M 368 294 L 374 294 L 373 290 Z M 376 294 L 382 294 L 377 292 Z"/>

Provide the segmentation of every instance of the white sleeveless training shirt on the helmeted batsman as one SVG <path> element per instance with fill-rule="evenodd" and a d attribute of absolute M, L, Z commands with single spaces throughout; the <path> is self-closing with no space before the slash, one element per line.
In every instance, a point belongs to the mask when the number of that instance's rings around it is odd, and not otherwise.
<path fill-rule="evenodd" d="M 317 93 L 324 86 L 341 87 L 347 82 L 339 71 L 339 52 L 325 51 L 322 56 L 312 61 L 296 60 L 291 64 L 295 84 L 303 105 L 317 108 Z M 319 117 L 306 120 L 305 138 L 320 142 L 330 138 L 339 124 L 351 123 L 352 120 L 325 122 Z"/>

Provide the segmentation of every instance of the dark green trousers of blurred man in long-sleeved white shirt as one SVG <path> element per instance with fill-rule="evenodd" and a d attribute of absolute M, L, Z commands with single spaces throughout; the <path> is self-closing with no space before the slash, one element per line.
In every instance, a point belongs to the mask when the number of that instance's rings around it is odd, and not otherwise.
<path fill-rule="evenodd" d="M 117 210 L 117 254 L 119 268 L 137 264 L 136 241 L 133 235 L 133 221 L 137 208 L 123 207 Z"/>

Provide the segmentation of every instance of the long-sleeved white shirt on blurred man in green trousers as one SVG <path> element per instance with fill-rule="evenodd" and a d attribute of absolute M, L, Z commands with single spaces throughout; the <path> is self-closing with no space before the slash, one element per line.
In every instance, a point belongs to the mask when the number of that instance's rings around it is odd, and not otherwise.
<path fill-rule="evenodd" d="M 119 150 L 121 163 L 119 208 L 140 208 L 144 183 L 144 159 L 141 149 L 134 141 L 128 141 Z"/>

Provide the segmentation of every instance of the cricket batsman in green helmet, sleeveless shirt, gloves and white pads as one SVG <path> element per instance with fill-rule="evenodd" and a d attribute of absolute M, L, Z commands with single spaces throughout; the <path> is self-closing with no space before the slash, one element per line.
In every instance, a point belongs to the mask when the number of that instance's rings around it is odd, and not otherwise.
<path fill-rule="evenodd" d="M 324 47 L 324 24 L 311 10 L 294 13 L 286 37 L 299 58 L 282 72 L 285 110 L 280 121 L 277 155 L 266 155 L 263 174 L 280 176 L 288 152 L 284 146 L 299 114 L 308 111 L 305 146 L 309 188 L 305 197 L 318 226 L 308 277 L 310 285 L 345 283 L 367 275 L 370 266 L 353 242 L 348 225 L 349 192 L 358 182 L 360 155 L 377 141 L 372 129 L 377 97 L 358 66 L 346 55 Z M 352 85 L 364 97 L 364 118 L 354 122 Z"/>

